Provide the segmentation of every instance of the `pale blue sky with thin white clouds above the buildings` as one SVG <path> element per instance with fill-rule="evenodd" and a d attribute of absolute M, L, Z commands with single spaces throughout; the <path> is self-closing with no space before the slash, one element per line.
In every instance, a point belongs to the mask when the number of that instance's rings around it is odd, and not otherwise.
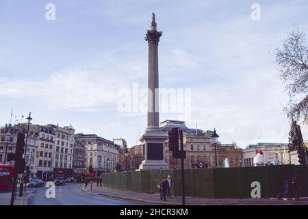
<path fill-rule="evenodd" d="M 155 12 L 163 31 L 159 87 L 176 90 L 179 99 L 182 89 L 188 100 L 161 112 L 161 122 L 216 128 L 220 142 L 242 148 L 287 143 L 288 96 L 274 49 L 295 27 L 308 37 L 307 9 L 305 0 L 2 0 L 0 124 L 9 123 L 14 109 L 12 123 L 31 112 L 35 124 L 72 124 L 75 133 L 139 144 L 146 112 L 123 112 L 120 103 L 144 105 L 144 36 Z M 123 92 L 131 98 L 123 99 Z M 302 132 L 308 139 L 304 125 Z"/>

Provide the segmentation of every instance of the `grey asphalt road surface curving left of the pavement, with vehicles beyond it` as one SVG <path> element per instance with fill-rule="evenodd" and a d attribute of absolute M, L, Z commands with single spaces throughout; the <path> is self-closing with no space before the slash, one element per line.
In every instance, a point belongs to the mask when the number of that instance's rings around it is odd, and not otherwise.
<path fill-rule="evenodd" d="M 47 188 L 29 188 L 36 192 L 29 200 L 29 205 L 149 205 L 134 201 L 125 201 L 97 194 L 88 194 L 80 190 L 79 183 L 66 183 L 55 187 L 55 198 L 47 198 Z"/>

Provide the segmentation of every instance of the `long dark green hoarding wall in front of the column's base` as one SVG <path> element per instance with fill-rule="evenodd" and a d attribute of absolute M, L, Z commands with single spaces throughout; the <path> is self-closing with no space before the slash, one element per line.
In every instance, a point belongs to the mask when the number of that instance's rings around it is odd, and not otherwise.
<path fill-rule="evenodd" d="M 308 196 L 308 165 L 277 165 L 242 168 L 188 169 L 185 174 L 185 196 L 204 198 L 252 198 L 253 182 L 259 183 L 261 198 L 276 197 L 284 191 L 284 182 L 298 175 L 300 196 Z M 181 196 L 181 170 L 140 170 L 109 172 L 103 175 L 108 188 L 133 192 L 158 193 L 162 177 L 171 176 L 172 194 Z"/>

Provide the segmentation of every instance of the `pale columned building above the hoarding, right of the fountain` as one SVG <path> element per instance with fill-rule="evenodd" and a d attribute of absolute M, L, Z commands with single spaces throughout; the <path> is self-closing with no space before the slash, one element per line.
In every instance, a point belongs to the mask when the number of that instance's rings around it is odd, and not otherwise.
<path fill-rule="evenodd" d="M 257 150 L 263 151 L 265 165 L 290 164 L 287 144 L 257 143 L 250 144 L 243 150 L 242 166 L 253 166 L 253 158 L 257 155 Z"/>

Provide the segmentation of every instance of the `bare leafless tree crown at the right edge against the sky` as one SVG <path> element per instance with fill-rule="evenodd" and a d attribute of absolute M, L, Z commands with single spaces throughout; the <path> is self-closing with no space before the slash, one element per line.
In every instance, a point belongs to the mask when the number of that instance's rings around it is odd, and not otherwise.
<path fill-rule="evenodd" d="M 291 120 L 303 116 L 304 122 L 308 123 L 308 95 L 298 103 L 293 100 L 297 95 L 308 93 L 308 46 L 304 32 L 297 28 L 290 32 L 282 47 L 275 49 L 275 55 L 281 80 L 290 95 L 285 112 Z"/>

